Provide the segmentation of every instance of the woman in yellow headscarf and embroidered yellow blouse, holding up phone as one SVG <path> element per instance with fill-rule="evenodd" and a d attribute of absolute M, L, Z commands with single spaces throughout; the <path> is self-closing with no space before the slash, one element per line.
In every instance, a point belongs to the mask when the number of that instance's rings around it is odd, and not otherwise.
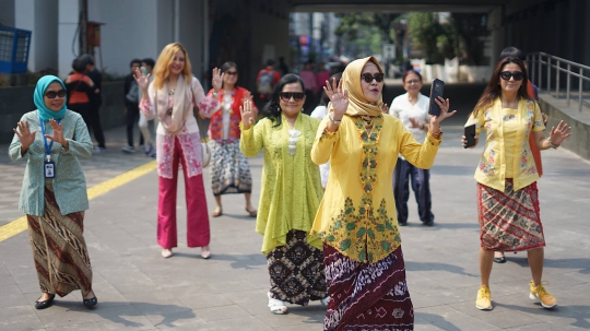
<path fill-rule="evenodd" d="M 391 188 L 401 154 L 429 168 L 441 141 L 440 116 L 430 117 L 420 144 L 403 123 L 382 114 L 384 71 L 374 57 L 351 62 L 340 82 L 324 87 L 330 113 L 311 149 L 317 164 L 330 161 L 326 193 L 311 235 L 323 241 L 330 304 L 323 330 L 413 330 L 414 312 Z"/>

